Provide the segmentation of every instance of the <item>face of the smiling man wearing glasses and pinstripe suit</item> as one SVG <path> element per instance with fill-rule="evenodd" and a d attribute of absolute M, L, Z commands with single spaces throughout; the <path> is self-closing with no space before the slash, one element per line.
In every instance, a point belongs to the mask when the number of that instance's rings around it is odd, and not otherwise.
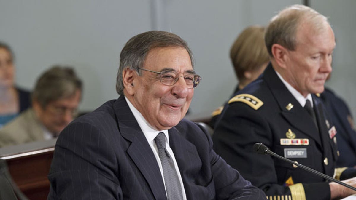
<path fill-rule="evenodd" d="M 148 52 L 143 68 L 162 72 L 173 70 L 179 76 L 194 73 L 188 52 L 181 47 L 155 48 Z M 183 78 L 172 86 L 163 85 L 156 73 L 141 70 L 132 73 L 132 85 L 125 96 L 156 130 L 167 130 L 183 119 L 192 101 L 194 89 Z M 124 77 L 125 79 L 125 77 Z"/>

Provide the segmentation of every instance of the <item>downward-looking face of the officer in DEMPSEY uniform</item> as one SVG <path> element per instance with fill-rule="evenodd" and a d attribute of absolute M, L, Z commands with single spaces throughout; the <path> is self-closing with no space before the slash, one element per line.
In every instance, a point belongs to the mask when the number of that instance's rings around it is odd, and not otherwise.
<path fill-rule="evenodd" d="M 322 93 L 325 80 L 332 70 L 334 32 L 326 22 L 319 31 L 303 23 L 298 28 L 296 41 L 295 50 L 287 50 L 286 53 L 287 76 L 284 78 L 303 96 Z"/>

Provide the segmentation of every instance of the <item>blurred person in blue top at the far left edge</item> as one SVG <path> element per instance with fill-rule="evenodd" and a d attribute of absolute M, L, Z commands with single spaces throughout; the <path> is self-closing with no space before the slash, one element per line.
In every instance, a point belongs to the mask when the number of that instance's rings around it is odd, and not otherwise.
<path fill-rule="evenodd" d="M 30 92 L 15 86 L 14 53 L 0 42 L 0 128 L 30 106 Z"/>

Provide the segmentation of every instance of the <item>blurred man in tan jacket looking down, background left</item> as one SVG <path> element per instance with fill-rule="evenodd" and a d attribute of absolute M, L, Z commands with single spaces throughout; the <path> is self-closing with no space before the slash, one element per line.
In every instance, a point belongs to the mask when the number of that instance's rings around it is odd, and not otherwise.
<path fill-rule="evenodd" d="M 77 115 L 82 81 L 72 67 L 53 66 L 37 80 L 32 108 L 0 130 L 0 147 L 58 137 Z"/>

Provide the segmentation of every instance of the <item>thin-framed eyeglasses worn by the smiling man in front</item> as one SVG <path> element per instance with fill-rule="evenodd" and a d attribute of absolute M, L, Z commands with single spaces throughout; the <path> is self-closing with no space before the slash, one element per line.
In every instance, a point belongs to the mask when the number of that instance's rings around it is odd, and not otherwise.
<path fill-rule="evenodd" d="M 153 72 L 153 73 L 156 73 L 156 74 L 160 74 L 159 75 L 159 81 L 161 81 L 161 83 L 163 85 L 167 85 L 167 86 L 171 86 L 171 85 L 176 84 L 177 81 L 178 81 L 178 78 L 179 77 L 183 77 L 184 80 L 185 80 L 185 83 L 188 86 L 188 88 L 189 89 L 193 89 L 200 83 L 200 80 L 201 80 L 201 77 L 198 74 L 187 74 L 187 75 L 184 75 L 184 76 L 179 76 L 177 74 L 177 72 L 169 71 L 169 70 L 166 70 L 166 71 L 163 71 L 163 72 L 156 72 L 156 71 L 152 71 L 152 70 L 149 70 L 149 69 L 143 69 L 143 68 L 140 68 L 140 69 L 148 71 L 148 72 Z"/>

